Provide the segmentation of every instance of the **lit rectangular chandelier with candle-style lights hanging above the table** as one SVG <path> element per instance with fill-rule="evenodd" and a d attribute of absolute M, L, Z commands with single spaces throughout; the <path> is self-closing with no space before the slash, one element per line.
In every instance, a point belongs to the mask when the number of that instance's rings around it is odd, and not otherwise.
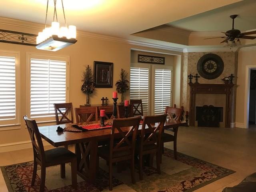
<path fill-rule="evenodd" d="M 60 27 L 60 23 L 58 22 L 58 17 L 57 17 L 56 2 L 57 0 L 54 0 L 54 15 L 53 15 L 52 25 L 50 27 L 46 27 L 48 4 L 49 4 L 49 0 L 47 0 L 45 28 L 42 32 L 39 32 L 38 36 L 36 37 L 37 49 L 57 51 L 77 42 L 76 26 L 70 25 L 67 27 L 63 0 L 61 0 L 61 2 L 62 2 L 62 10 L 63 10 L 65 26 Z M 55 21 L 55 17 L 56 17 L 56 21 Z"/>

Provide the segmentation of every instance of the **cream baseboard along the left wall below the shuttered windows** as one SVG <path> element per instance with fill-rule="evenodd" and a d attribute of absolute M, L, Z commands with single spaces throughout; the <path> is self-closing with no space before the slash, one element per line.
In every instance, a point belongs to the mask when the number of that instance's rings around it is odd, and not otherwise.
<path fill-rule="evenodd" d="M 42 140 L 42 142 L 45 146 L 50 145 L 50 143 L 46 142 L 46 140 Z M 30 140 L 13 142 L 13 143 L 5 143 L 5 144 L 0 144 L 0 153 L 28 149 L 28 148 L 32 148 L 32 143 Z"/>

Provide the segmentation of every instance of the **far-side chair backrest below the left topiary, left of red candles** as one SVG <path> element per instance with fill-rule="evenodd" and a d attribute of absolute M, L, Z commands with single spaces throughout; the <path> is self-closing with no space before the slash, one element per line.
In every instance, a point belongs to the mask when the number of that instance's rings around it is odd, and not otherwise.
<path fill-rule="evenodd" d="M 97 107 L 75 108 L 75 112 L 76 112 L 76 122 L 77 123 L 98 121 Z"/>

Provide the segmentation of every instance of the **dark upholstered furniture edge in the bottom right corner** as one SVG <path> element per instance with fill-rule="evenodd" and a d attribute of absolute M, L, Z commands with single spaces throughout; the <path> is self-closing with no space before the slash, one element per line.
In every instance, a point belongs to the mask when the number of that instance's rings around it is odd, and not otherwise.
<path fill-rule="evenodd" d="M 226 187 L 222 192 L 255 192 L 256 173 L 246 177 L 240 184 L 234 187 Z"/>

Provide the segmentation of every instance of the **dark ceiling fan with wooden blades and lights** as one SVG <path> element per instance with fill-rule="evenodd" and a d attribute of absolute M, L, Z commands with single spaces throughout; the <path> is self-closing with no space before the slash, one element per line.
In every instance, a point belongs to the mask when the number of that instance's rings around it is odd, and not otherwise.
<path fill-rule="evenodd" d="M 251 35 L 251 34 L 256 34 L 256 31 L 250 31 L 250 32 L 244 32 L 244 33 L 241 33 L 240 30 L 238 29 L 234 29 L 234 19 L 237 17 L 238 15 L 230 15 L 230 18 L 232 18 L 232 29 L 231 30 L 228 30 L 226 32 L 222 32 L 224 33 L 226 36 L 223 36 L 223 37 L 213 37 L 213 38 L 206 38 L 206 39 L 214 39 L 214 38 L 225 38 L 222 42 L 220 43 L 228 43 L 228 41 L 230 42 L 234 42 L 235 39 L 237 39 L 237 42 L 239 40 L 239 38 L 241 39 L 255 39 L 256 36 L 248 36 L 248 35 Z M 235 42 L 234 42 L 235 43 Z"/>

